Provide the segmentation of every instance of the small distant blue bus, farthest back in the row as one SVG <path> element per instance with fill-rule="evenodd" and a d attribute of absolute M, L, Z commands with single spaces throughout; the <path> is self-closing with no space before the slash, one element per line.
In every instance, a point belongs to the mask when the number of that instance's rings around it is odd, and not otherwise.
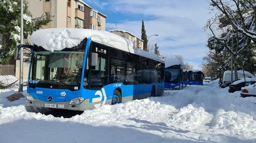
<path fill-rule="evenodd" d="M 204 80 L 204 73 L 198 69 L 187 70 L 187 85 L 202 85 Z"/>

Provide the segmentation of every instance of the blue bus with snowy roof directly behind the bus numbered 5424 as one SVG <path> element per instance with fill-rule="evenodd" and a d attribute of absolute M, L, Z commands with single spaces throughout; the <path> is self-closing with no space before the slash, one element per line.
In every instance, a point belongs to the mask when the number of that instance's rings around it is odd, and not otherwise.
<path fill-rule="evenodd" d="M 179 59 L 163 59 L 165 62 L 164 90 L 180 90 L 186 87 L 183 70 L 186 65 Z"/>

